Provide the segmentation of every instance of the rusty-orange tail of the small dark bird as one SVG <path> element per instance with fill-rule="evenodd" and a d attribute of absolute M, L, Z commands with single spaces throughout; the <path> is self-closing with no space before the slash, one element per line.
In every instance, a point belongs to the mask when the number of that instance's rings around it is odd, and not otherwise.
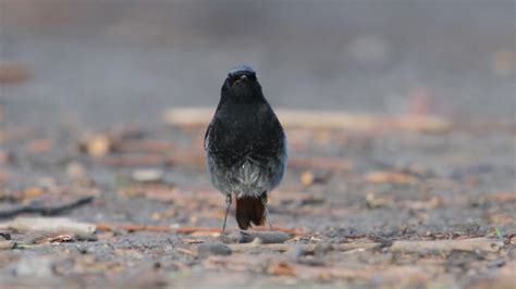
<path fill-rule="evenodd" d="M 236 222 L 243 230 L 250 227 L 250 223 L 261 226 L 266 222 L 266 206 L 261 198 L 236 198 Z"/>

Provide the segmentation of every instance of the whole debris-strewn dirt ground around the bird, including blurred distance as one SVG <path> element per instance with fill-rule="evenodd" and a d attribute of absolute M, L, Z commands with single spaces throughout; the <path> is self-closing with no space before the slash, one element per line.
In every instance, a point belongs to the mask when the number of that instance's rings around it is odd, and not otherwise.
<path fill-rule="evenodd" d="M 514 3 L 314 5 L 0 0 L 0 287 L 514 288 Z M 284 242 L 221 236 L 206 124 L 161 116 L 242 59 L 347 124 L 286 128 Z"/>

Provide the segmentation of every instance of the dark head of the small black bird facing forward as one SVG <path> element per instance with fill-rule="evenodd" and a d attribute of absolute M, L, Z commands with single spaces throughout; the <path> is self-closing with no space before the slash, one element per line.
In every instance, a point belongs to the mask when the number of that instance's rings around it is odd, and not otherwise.
<path fill-rule="evenodd" d="M 222 86 L 222 97 L 232 101 L 253 101 L 263 98 L 256 72 L 247 65 L 230 70 Z"/>

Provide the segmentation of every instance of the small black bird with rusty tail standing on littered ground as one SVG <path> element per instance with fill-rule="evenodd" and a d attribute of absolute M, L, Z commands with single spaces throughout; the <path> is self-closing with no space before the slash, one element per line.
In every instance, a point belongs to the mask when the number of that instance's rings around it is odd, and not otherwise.
<path fill-rule="evenodd" d="M 225 230 L 232 196 L 241 229 L 265 221 L 272 225 L 267 197 L 283 178 L 286 138 L 283 127 L 261 91 L 255 71 L 241 65 L 230 70 L 205 135 L 211 184 L 226 196 Z"/>

